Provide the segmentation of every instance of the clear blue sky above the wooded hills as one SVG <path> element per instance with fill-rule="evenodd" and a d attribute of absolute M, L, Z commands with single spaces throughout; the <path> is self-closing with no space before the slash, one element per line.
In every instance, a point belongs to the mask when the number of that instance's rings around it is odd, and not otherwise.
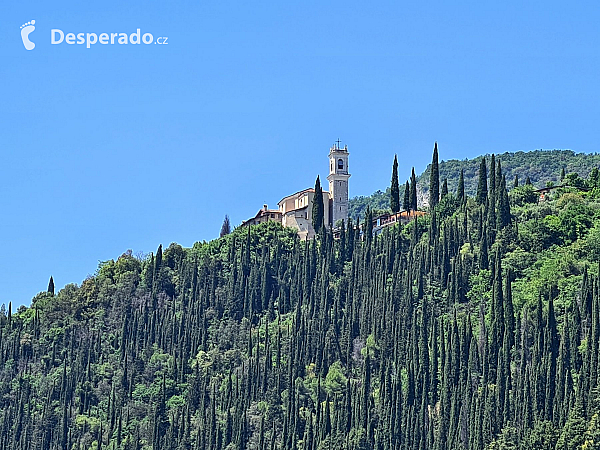
<path fill-rule="evenodd" d="M 0 303 L 212 239 L 325 176 L 338 137 L 351 197 L 385 189 L 394 153 L 421 172 L 435 140 L 442 159 L 597 151 L 599 22 L 597 2 L 5 2 Z"/>

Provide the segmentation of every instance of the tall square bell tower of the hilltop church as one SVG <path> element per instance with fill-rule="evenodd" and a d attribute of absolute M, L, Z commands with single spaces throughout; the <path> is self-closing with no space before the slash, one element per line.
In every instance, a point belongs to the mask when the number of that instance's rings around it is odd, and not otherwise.
<path fill-rule="evenodd" d="M 348 146 L 340 147 L 338 139 L 329 149 L 329 220 L 335 226 L 339 220 L 348 223 Z"/>

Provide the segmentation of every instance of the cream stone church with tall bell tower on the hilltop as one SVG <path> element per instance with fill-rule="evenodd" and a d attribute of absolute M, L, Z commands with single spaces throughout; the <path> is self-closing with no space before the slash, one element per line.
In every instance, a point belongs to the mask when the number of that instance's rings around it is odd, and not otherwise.
<path fill-rule="evenodd" d="M 324 221 L 329 228 L 339 226 L 341 221 L 348 222 L 348 146 L 340 146 L 338 139 L 329 149 L 329 191 L 323 190 L 325 205 Z M 242 226 L 256 225 L 267 221 L 277 221 L 284 227 L 294 228 L 301 239 L 314 237 L 312 225 L 312 203 L 314 188 L 307 188 L 282 198 L 278 209 L 269 209 L 267 205 L 256 216 L 242 222 Z"/>

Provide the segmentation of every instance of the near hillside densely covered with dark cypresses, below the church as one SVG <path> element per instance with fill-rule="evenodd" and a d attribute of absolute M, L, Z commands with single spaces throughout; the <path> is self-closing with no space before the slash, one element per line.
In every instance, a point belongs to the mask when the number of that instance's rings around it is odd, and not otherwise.
<path fill-rule="evenodd" d="M 599 448 L 600 175 L 538 202 L 502 158 L 379 235 L 238 228 L 9 306 L 0 448 Z"/>

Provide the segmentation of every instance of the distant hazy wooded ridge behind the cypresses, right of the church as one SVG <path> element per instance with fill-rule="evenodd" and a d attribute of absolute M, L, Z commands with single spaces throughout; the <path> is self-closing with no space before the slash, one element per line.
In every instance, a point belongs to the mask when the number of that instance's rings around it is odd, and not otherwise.
<path fill-rule="evenodd" d="M 440 161 L 440 179 L 448 179 L 448 190 L 456 192 L 460 170 L 465 172 L 465 191 L 468 195 L 475 195 L 477 189 L 477 174 L 481 159 L 485 156 L 489 162 L 491 155 L 482 155 L 474 159 Z M 506 175 L 509 188 L 513 185 L 515 175 L 519 177 L 521 184 L 527 177 L 534 186 L 541 188 L 546 183 L 559 184 L 561 171 L 566 173 L 577 173 L 586 177 L 594 167 L 600 167 L 600 154 L 575 153 L 571 150 L 534 150 L 530 152 L 502 153 L 496 155 L 502 164 L 502 170 Z M 417 176 L 417 185 L 420 189 L 420 199 L 427 201 L 427 190 L 429 186 L 429 169 Z M 391 164 L 390 164 L 391 174 Z M 404 195 L 404 181 L 410 176 L 410 167 L 400 171 L 400 198 Z M 402 178 L 404 177 L 404 178 Z M 389 186 L 389 181 L 387 182 Z M 349 214 L 352 218 L 363 217 L 367 205 L 371 209 L 389 209 L 390 194 L 389 187 L 385 191 L 374 192 L 370 196 L 358 196 L 350 199 Z M 419 202 L 421 204 L 421 202 Z"/>

